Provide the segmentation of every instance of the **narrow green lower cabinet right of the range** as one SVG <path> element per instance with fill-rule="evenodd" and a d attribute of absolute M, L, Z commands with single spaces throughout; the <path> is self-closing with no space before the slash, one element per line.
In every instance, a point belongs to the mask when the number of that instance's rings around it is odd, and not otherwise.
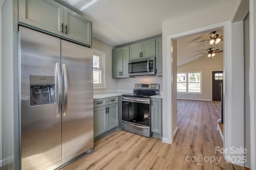
<path fill-rule="evenodd" d="M 151 131 L 162 134 L 162 99 L 151 99 Z"/>

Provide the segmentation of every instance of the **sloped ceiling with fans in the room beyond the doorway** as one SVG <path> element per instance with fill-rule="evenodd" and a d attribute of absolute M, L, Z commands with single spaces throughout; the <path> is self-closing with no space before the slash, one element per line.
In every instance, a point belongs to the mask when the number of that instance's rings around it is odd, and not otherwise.
<path fill-rule="evenodd" d="M 223 50 L 222 41 L 220 41 L 218 44 L 214 43 L 213 45 L 208 44 L 205 46 L 204 44 L 207 43 L 208 41 L 198 42 L 202 40 L 209 40 L 210 32 L 212 31 L 217 31 L 216 34 L 219 34 L 219 36 L 223 35 L 222 30 L 209 30 L 209 32 L 207 33 L 202 33 L 202 34 L 199 33 L 198 35 L 178 38 L 177 39 L 177 66 L 199 59 L 200 56 L 204 55 L 201 53 L 207 53 L 209 51 L 209 48 L 212 48 L 212 51 L 216 49 L 220 49 L 218 51 L 222 51 Z M 198 42 L 198 43 L 194 43 L 194 42 Z"/>

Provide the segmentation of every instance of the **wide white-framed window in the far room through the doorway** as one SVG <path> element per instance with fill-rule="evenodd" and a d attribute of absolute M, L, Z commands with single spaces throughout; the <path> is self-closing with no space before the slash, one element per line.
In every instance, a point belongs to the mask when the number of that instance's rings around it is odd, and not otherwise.
<path fill-rule="evenodd" d="M 178 94 L 203 94 L 202 71 L 177 73 Z"/>

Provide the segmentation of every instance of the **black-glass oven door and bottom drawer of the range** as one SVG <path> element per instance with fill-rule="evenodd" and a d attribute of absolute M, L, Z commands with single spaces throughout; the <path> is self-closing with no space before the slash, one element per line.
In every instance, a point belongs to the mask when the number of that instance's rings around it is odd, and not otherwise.
<path fill-rule="evenodd" d="M 122 96 L 122 129 L 152 136 L 150 128 L 150 99 Z"/>

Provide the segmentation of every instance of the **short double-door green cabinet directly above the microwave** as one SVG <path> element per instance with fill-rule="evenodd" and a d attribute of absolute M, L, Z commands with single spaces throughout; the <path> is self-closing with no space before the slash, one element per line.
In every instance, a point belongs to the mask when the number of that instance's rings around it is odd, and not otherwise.
<path fill-rule="evenodd" d="M 156 40 L 130 45 L 130 60 L 156 56 Z"/>

